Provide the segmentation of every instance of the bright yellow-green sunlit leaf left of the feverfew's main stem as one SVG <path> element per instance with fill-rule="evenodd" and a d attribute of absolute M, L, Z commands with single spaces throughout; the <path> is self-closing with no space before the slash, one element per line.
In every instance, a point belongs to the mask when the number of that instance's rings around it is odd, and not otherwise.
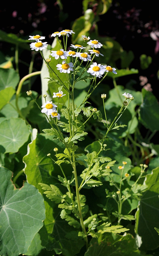
<path fill-rule="evenodd" d="M 27 182 L 38 188 L 40 192 L 42 189 L 39 183 L 55 184 L 56 180 L 53 176 L 61 173 L 59 166 L 53 164 L 51 158 L 47 156 L 50 153 L 53 159 L 57 159 L 53 151 L 55 147 L 60 152 L 59 141 L 53 140 L 52 136 L 46 134 L 37 134 L 37 138 L 28 145 L 28 152 L 23 158 Z"/>

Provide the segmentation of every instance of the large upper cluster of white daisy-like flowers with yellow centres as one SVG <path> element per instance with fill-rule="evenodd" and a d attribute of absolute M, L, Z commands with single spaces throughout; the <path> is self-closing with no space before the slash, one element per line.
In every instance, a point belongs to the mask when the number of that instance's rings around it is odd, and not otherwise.
<path fill-rule="evenodd" d="M 57 31 L 54 32 L 53 34 L 51 34 L 52 37 L 60 37 L 60 36 L 70 36 L 72 34 L 75 34 L 75 32 L 73 32 L 73 30 L 62 30 L 61 32 Z M 98 48 L 101 48 L 103 45 L 98 42 L 98 40 L 90 40 L 90 37 L 86 37 L 85 35 L 82 36 L 84 41 L 88 41 L 87 44 L 92 48 L 91 50 L 88 50 L 90 52 L 90 54 L 88 54 L 88 52 L 81 52 L 81 50 L 85 49 L 86 47 L 80 45 L 80 44 L 71 44 L 71 48 L 77 49 L 77 52 L 75 52 L 74 50 L 68 50 L 65 51 L 64 49 L 60 49 L 57 51 L 51 51 L 51 56 L 55 58 L 55 60 L 62 60 L 62 64 L 57 64 L 57 70 L 60 71 L 60 73 L 70 73 L 71 71 L 73 71 L 74 65 L 73 62 L 66 62 L 67 57 L 76 57 L 79 58 L 80 60 L 84 61 L 84 62 L 88 62 L 92 60 L 92 54 L 94 54 L 96 57 L 99 57 L 99 55 L 104 56 L 103 54 L 100 53 L 99 50 L 97 50 Z M 45 36 L 29 36 L 29 40 L 35 40 L 35 42 L 30 44 L 31 50 L 35 50 L 35 51 L 42 51 L 43 49 L 47 48 L 47 42 L 41 42 L 42 39 L 45 39 Z M 91 63 L 90 63 L 91 64 Z M 93 62 L 90 67 L 88 68 L 88 73 L 90 73 L 92 76 L 96 76 L 98 78 L 101 78 L 102 75 L 105 72 L 113 72 L 114 74 L 117 74 L 117 72 L 115 71 L 116 68 L 112 68 L 111 66 L 106 66 L 106 65 L 102 65 L 102 64 L 97 64 L 97 62 Z"/>

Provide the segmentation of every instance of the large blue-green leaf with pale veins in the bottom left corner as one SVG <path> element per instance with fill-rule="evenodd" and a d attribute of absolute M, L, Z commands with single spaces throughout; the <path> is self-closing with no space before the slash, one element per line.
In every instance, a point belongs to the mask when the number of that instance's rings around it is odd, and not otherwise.
<path fill-rule="evenodd" d="M 6 168 L 0 168 L 0 177 L 0 255 L 25 254 L 43 226 L 43 196 L 27 182 L 15 189 Z"/>

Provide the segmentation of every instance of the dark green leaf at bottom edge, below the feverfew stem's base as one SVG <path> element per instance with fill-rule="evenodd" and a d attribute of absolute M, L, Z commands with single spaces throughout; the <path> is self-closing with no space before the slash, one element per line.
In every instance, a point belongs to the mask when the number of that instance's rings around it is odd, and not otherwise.
<path fill-rule="evenodd" d="M 84 256 L 143 256 L 135 248 L 135 238 L 131 234 L 103 234 L 98 239 L 92 238 Z M 151 256 L 147 254 L 147 256 Z"/>

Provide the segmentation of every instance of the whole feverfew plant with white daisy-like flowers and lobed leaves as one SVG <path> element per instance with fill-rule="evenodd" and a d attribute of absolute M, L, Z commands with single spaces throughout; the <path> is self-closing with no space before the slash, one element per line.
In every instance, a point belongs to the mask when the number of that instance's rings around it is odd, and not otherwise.
<path fill-rule="evenodd" d="M 106 190 L 108 196 L 112 196 L 118 204 L 118 211 L 114 214 L 118 217 L 118 224 L 122 219 L 122 202 L 128 198 L 123 197 L 121 192 L 121 185 L 123 180 L 128 178 L 129 174 L 124 174 L 124 166 L 121 168 L 122 173 L 120 175 L 120 185 L 118 186 L 113 182 L 113 176 L 111 175 L 110 166 L 113 166 L 116 161 L 112 161 L 110 157 L 105 156 L 103 152 L 107 149 L 106 138 L 108 133 L 114 129 L 120 129 L 124 127 L 124 124 L 118 124 L 120 117 L 124 114 L 126 108 L 133 100 L 133 96 L 129 93 L 124 93 L 123 103 L 116 117 L 112 122 L 108 122 L 107 114 L 104 106 L 104 100 L 106 100 L 106 94 L 102 94 L 104 108 L 104 119 L 102 113 L 97 108 L 94 108 L 89 103 L 89 98 L 100 85 L 102 80 L 106 78 L 108 72 L 117 74 L 116 68 L 112 68 L 106 64 L 98 63 L 98 57 L 103 56 L 100 53 L 99 48 L 102 44 L 98 40 L 91 40 L 85 35 L 82 36 L 83 42 L 88 44 L 91 48 L 86 52 L 86 47 L 80 44 L 67 45 L 67 37 L 71 36 L 74 32 L 72 30 L 63 30 L 61 32 L 54 32 L 51 36 L 63 37 L 63 45 L 59 40 L 60 49 L 51 50 L 47 59 L 44 58 L 42 50 L 47 47 L 47 42 L 43 43 L 41 37 L 29 36 L 29 40 L 35 40 L 30 44 L 31 50 L 40 50 L 41 56 L 48 66 L 52 77 L 48 78 L 49 81 L 54 82 L 57 90 L 53 92 L 53 100 L 58 99 L 58 102 L 48 101 L 47 96 L 44 95 L 45 104 L 39 106 L 41 112 L 45 114 L 47 122 L 50 124 L 50 128 L 43 129 L 43 132 L 52 136 L 54 140 L 59 140 L 63 144 L 63 152 L 59 152 L 58 148 L 54 148 L 55 156 L 57 160 L 53 160 L 54 164 L 57 164 L 61 169 L 61 174 L 58 175 L 59 184 L 65 187 L 65 192 L 60 190 L 55 184 L 40 183 L 45 194 L 49 199 L 58 204 L 60 210 L 60 216 L 65 219 L 69 225 L 75 227 L 78 234 L 82 236 L 85 241 L 86 249 L 89 246 L 88 236 L 98 237 L 100 230 L 102 232 L 108 231 L 108 226 L 112 224 L 110 222 L 104 222 L 103 218 L 96 215 L 89 216 L 89 211 L 86 206 L 86 197 L 82 194 L 84 187 L 98 187 L 102 185 L 102 179 L 108 177 L 108 180 L 116 188 L 116 194 L 111 194 Z M 88 42 L 87 42 L 88 41 Z M 73 48 L 73 50 L 70 50 Z M 69 60 L 68 60 L 69 58 Z M 70 62 L 71 58 L 71 62 Z M 96 60 L 94 60 L 96 58 Z M 50 62 L 55 62 L 56 70 L 51 68 Z M 65 74 L 65 81 L 61 79 L 61 73 Z M 87 73 L 87 75 L 85 75 Z M 89 79 L 90 86 L 86 92 L 86 95 L 78 106 L 75 104 L 75 84 L 78 81 Z M 65 90 L 65 94 L 63 92 Z M 32 96 L 30 92 L 27 95 Z M 64 98 L 67 98 L 67 100 Z M 35 100 L 33 98 L 33 100 Z M 37 102 L 36 102 L 37 104 Z M 62 118 L 61 118 L 62 117 Z M 88 152 L 85 154 L 79 150 L 79 142 L 83 141 L 88 135 L 86 131 L 87 122 L 90 118 L 98 119 L 98 122 L 105 127 L 105 134 L 98 140 L 98 150 Z M 48 154 L 50 157 L 50 154 Z M 108 164 L 109 163 L 109 164 Z M 63 164 L 67 164 L 68 169 L 72 170 L 72 176 L 67 177 L 67 169 L 63 169 Z M 126 163 L 124 163 L 125 165 Z M 80 173 L 77 173 L 77 169 L 80 166 Z M 118 195 L 118 197 L 117 197 Z M 87 216 L 87 217 L 86 217 Z M 95 216 L 95 217 L 94 217 Z M 86 225 L 86 223 L 88 223 Z M 109 227 L 110 228 L 110 227 Z M 116 233 L 126 232 L 128 229 L 123 226 L 115 226 Z M 111 232 L 111 231 L 110 231 Z"/>

